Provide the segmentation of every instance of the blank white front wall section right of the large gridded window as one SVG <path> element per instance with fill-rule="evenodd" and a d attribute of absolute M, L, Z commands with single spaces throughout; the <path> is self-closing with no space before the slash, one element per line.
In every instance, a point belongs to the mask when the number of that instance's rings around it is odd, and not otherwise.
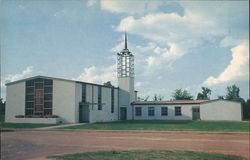
<path fill-rule="evenodd" d="M 76 123 L 76 83 L 53 80 L 53 115 L 63 123 Z"/>

